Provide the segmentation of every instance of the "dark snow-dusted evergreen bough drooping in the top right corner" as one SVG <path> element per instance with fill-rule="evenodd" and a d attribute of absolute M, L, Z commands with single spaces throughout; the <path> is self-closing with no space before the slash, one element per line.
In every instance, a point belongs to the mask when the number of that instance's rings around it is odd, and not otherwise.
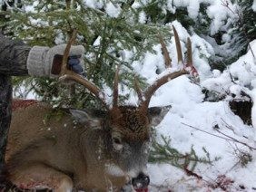
<path fill-rule="evenodd" d="M 256 38 L 256 13 L 252 10 L 253 0 L 238 0 L 236 3 L 237 9 L 232 9 L 228 2 L 223 1 L 222 5 L 236 16 L 236 20 L 231 23 L 227 31 L 220 31 L 214 36 L 221 51 L 212 56 L 212 67 L 221 70 L 238 60 L 248 48 L 251 50 L 249 43 Z M 223 35 L 229 38 L 222 39 Z"/>

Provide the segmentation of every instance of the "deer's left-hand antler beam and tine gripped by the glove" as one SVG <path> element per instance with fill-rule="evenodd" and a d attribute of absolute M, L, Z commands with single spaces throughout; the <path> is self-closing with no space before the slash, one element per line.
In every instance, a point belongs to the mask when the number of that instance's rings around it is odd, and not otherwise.
<path fill-rule="evenodd" d="M 71 45 L 72 43 L 74 43 L 75 37 L 76 37 L 76 30 L 73 31 L 73 34 L 65 47 L 59 80 L 60 81 L 73 80 L 74 82 L 78 82 L 84 85 L 84 87 L 87 88 L 90 92 L 92 92 L 100 101 L 102 101 L 104 107 L 107 110 L 109 110 L 109 107 L 105 102 L 103 91 L 101 91 L 96 85 L 94 85 L 94 83 L 84 79 L 84 77 L 82 77 L 81 75 L 67 69 L 67 66 L 66 66 L 67 60 L 68 60 Z"/>

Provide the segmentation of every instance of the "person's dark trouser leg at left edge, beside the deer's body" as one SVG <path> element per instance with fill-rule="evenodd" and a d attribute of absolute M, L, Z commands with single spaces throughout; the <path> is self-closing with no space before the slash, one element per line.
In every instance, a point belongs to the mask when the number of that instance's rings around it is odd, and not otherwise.
<path fill-rule="evenodd" d="M 0 187 L 5 178 L 1 178 L 5 168 L 5 148 L 12 116 L 11 77 L 0 74 Z M 1 181 L 2 180 L 2 181 Z"/>

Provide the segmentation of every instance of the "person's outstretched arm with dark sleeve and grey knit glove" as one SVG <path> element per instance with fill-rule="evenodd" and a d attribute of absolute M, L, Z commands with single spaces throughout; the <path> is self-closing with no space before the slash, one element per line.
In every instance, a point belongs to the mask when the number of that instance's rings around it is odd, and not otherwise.
<path fill-rule="evenodd" d="M 0 34 L 0 74 L 8 76 L 31 75 L 58 77 L 66 44 L 30 47 Z M 72 46 L 68 66 L 74 72 L 84 74 L 84 46 Z"/>

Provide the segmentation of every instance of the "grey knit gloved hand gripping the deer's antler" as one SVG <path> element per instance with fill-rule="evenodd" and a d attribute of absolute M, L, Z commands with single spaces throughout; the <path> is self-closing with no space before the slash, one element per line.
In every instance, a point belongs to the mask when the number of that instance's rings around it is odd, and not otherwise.
<path fill-rule="evenodd" d="M 58 77 L 61 72 L 61 64 L 66 44 L 56 45 L 52 48 L 34 46 L 27 58 L 27 70 L 32 76 Z M 84 46 L 71 46 L 68 68 L 76 73 L 84 75 Z"/>

